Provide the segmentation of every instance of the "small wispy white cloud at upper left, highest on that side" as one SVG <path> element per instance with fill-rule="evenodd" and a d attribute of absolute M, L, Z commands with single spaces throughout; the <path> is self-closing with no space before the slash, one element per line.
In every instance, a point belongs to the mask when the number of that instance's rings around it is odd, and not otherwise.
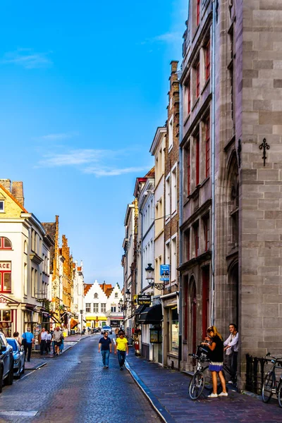
<path fill-rule="evenodd" d="M 17 49 L 6 53 L 0 63 L 12 63 L 25 69 L 47 68 L 53 64 L 48 57 L 50 53 L 51 51 L 37 53 L 32 49 Z"/>

